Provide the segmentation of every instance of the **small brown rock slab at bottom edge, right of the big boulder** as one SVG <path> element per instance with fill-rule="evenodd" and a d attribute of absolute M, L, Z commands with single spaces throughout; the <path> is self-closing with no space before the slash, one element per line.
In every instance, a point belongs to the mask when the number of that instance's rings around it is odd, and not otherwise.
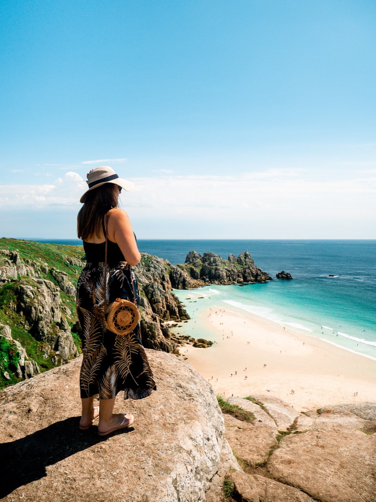
<path fill-rule="evenodd" d="M 231 473 L 235 494 L 241 502 L 313 502 L 306 493 L 293 486 L 257 474 Z"/>

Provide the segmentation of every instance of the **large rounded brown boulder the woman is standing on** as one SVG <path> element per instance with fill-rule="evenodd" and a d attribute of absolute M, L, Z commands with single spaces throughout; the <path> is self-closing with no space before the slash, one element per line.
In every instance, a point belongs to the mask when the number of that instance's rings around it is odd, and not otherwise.
<path fill-rule="evenodd" d="M 148 350 L 158 390 L 118 411 L 132 428 L 103 440 L 78 429 L 81 358 L 2 391 L 0 496 L 11 502 L 217 502 L 229 468 L 211 386 L 185 361 Z"/>

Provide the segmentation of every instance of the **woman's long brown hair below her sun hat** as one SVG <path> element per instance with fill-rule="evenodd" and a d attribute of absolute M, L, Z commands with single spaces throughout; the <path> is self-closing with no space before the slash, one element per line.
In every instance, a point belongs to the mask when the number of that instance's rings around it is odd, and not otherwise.
<path fill-rule="evenodd" d="M 90 190 L 77 215 L 78 237 L 82 240 L 88 240 L 95 234 L 99 238 L 105 214 L 117 205 L 118 197 L 114 191 L 113 183 L 105 183 Z"/>

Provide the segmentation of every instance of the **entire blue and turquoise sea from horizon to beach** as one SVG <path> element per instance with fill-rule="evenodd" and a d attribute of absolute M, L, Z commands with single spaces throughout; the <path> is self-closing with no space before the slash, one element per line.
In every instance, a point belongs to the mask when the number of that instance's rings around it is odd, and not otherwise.
<path fill-rule="evenodd" d="M 79 239 L 35 240 L 81 243 Z M 184 326 L 186 334 L 197 337 L 201 306 L 222 306 L 265 317 L 376 360 L 376 240 L 138 239 L 138 245 L 141 252 L 172 264 L 184 263 L 192 249 L 200 254 L 212 251 L 224 259 L 248 249 L 256 266 L 274 278 L 265 284 L 205 286 L 189 294 L 176 291 L 196 320 Z M 275 279 L 281 270 L 293 280 Z M 201 335 L 211 338 L 210 332 Z"/>

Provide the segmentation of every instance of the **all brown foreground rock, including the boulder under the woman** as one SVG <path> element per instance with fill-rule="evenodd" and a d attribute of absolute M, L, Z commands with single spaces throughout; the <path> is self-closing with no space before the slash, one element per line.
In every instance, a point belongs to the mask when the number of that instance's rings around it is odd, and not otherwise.
<path fill-rule="evenodd" d="M 106 439 L 78 428 L 81 356 L 1 391 L 1 500 L 376 502 L 376 404 L 217 401 L 182 358 L 147 353 L 158 390 L 119 396 L 135 423 Z"/>

